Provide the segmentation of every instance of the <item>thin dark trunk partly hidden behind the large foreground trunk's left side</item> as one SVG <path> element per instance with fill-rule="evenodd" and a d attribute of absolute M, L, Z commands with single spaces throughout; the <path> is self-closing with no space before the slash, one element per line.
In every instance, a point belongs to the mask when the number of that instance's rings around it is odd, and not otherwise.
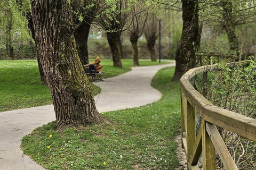
<path fill-rule="evenodd" d="M 26 18 L 28 20 L 28 28 L 30 30 L 31 36 L 34 39 L 35 45 L 36 45 L 35 29 L 34 29 L 34 23 L 33 23 L 33 18 L 32 18 L 31 12 L 27 12 Z M 37 45 L 36 45 L 36 47 L 37 47 Z M 38 64 L 38 71 L 39 71 L 40 78 L 41 78 L 41 84 L 42 84 L 42 86 L 46 86 L 47 81 L 46 81 L 46 78 L 45 78 L 45 75 L 43 72 L 43 66 L 41 64 L 39 56 L 40 56 L 40 54 L 37 52 L 37 64 Z"/>

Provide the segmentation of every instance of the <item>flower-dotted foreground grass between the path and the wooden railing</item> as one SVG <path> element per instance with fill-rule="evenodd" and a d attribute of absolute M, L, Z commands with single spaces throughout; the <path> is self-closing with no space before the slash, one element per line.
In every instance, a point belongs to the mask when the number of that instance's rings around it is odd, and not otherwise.
<path fill-rule="evenodd" d="M 151 83 L 162 92 L 161 100 L 103 113 L 112 125 L 58 132 L 51 122 L 24 137 L 22 150 L 46 169 L 174 169 L 180 90 L 170 82 L 173 72 L 174 67 L 162 69 Z"/>

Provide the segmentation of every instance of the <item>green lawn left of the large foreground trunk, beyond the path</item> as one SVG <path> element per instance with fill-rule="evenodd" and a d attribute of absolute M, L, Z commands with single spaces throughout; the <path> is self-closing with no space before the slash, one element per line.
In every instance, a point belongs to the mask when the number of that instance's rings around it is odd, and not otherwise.
<path fill-rule="evenodd" d="M 52 103 L 37 61 L 0 61 L 0 112 Z"/>

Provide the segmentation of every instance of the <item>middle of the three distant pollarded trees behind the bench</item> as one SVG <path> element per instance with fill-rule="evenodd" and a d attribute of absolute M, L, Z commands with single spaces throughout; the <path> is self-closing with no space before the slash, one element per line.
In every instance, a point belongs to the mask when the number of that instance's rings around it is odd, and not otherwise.
<path fill-rule="evenodd" d="M 130 41 L 132 44 L 133 49 L 133 65 L 140 65 L 139 64 L 139 56 L 138 56 L 138 39 L 142 36 L 147 14 L 145 15 L 143 12 L 138 13 L 138 10 L 141 11 L 142 9 L 142 3 L 133 6 L 132 8 L 132 15 L 134 16 L 131 26 L 127 30 L 127 34 L 130 36 Z"/>

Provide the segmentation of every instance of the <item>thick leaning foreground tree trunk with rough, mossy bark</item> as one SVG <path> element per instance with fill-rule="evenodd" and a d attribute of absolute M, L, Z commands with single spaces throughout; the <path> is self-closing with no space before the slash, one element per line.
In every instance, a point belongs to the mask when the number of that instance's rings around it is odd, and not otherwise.
<path fill-rule="evenodd" d="M 31 0 L 37 52 L 50 88 L 58 130 L 103 123 L 90 83 L 77 55 L 71 5 L 62 0 Z"/>

